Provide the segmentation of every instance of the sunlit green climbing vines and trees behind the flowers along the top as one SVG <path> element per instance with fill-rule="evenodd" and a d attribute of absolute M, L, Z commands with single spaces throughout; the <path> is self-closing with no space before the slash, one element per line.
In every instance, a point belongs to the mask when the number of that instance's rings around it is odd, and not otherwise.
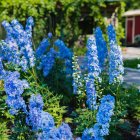
<path fill-rule="evenodd" d="M 92 34 L 93 28 L 100 26 L 103 31 L 107 26 L 105 16 L 111 16 L 110 12 L 105 13 L 108 5 L 117 5 L 114 9 L 118 17 L 117 27 L 118 40 L 124 37 L 124 30 L 121 23 L 121 15 L 124 12 L 124 2 L 107 2 L 105 0 L 1 0 L 0 1 L 0 22 L 18 19 L 25 24 L 25 19 L 33 16 L 35 19 L 34 43 L 52 32 L 61 37 L 69 47 L 76 46 L 78 55 L 85 52 L 85 40 L 87 32 Z M 84 24 L 83 24 L 83 21 Z M 89 27 L 91 26 L 91 27 Z M 0 29 L 2 30 L 2 29 Z M 0 31 L 2 32 L 2 31 Z M 4 36 L 4 32 L 0 37 Z M 78 40 L 78 43 L 76 43 Z M 80 51 L 83 50 L 83 51 Z"/>

